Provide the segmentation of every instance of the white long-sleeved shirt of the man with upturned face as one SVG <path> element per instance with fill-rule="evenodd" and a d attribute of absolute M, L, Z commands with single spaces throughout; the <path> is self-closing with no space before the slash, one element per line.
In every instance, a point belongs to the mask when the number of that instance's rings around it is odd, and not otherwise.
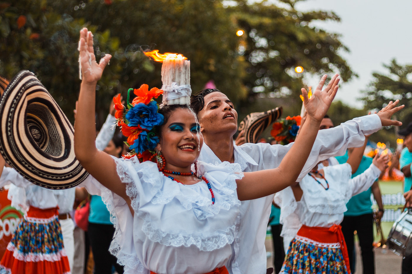
<path fill-rule="evenodd" d="M 363 145 L 364 135 L 370 135 L 382 128 L 376 114 L 355 118 L 327 130 L 320 130 L 309 158 L 300 173 L 298 181 L 321 160 L 340 156 L 348 147 Z M 293 143 L 286 146 L 270 144 L 243 144 L 234 147 L 234 161 L 243 172 L 276 168 Z M 206 163 L 220 163 L 213 151 L 204 144 L 199 160 Z M 293 167 L 292 167 L 293 168 Z M 230 274 L 266 273 L 265 237 L 273 195 L 250 201 L 242 201 L 237 237 L 232 244 L 232 258 L 226 267 Z"/>

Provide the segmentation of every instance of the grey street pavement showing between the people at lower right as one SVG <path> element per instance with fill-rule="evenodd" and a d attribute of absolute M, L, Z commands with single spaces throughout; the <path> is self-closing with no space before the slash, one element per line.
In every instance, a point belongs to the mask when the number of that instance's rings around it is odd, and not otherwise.
<path fill-rule="evenodd" d="M 273 267 L 273 257 L 269 257 L 273 254 L 272 235 L 267 235 L 265 245 L 266 251 L 271 252 L 271 254 L 267 253 L 267 267 Z M 402 258 L 388 248 L 375 248 L 375 274 L 400 274 L 401 264 Z M 356 272 L 352 274 L 362 274 L 361 248 L 358 243 L 356 243 Z"/>

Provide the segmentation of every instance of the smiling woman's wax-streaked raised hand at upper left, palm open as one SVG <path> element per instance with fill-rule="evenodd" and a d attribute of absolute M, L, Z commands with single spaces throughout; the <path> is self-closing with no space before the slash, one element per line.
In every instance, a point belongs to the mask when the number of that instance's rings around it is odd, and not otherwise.
<path fill-rule="evenodd" d="M 102 73 L 112 56 L 106 54 L 101 58 L 100 63 L 96 62 L 93 49 L 93 34 L 87 28 L 80 30 L 79 40 L 79 63 L 82 70 L 82 81 L 89 84 L 96 84 L 102 77 Z"/>

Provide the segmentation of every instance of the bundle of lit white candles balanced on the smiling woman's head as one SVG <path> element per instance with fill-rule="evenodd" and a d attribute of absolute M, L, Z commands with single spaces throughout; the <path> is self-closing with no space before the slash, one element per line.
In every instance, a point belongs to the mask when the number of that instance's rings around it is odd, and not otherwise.
<path fill-rule="evenodd" d="M 159 54 L 158 50 L 145 52 L 145 55 L 163 63 L 163 104 L 190 104 L 190 61 L 181 54 Z"/>

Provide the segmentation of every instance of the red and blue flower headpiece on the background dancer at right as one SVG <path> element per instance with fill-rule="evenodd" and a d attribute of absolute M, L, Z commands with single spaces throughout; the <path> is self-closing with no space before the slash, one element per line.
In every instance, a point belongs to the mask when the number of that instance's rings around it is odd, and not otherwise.
<path fill-rule="evenodd" d="M 289 144 L 295 142 L 297 130 L 299 130 L 301 117 L 293 116 L 281 119 L 279 122 L 273 123 L 270 135 L 275 138 L 279 144 Z"/>

